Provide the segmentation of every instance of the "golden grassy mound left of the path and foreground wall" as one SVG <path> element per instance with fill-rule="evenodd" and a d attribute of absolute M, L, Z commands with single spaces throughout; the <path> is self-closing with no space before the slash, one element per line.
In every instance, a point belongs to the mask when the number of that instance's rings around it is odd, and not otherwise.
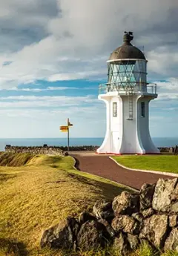
<path fill-rule="evenodd" d="M 124 186 L 77 171 L 72 157 L 0 155 L 0 256 L 59 256 L 39 248 L 42 232 Z"/>

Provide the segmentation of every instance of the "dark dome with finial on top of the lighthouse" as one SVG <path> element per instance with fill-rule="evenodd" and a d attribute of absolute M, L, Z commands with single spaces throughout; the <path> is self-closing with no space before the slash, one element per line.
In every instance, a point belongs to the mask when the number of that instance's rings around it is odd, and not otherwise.
<path fill-rule="evenodd" d="M 145 59 L 142 51 L 131 44 L 132 39 L 133 33 L 125 32 L 125 35 L 123 37 L 123 44 L 120 47 L 116 48 L 116 50 L 113 50 L 109 61 L 114 61 L 115 59 Z"/>

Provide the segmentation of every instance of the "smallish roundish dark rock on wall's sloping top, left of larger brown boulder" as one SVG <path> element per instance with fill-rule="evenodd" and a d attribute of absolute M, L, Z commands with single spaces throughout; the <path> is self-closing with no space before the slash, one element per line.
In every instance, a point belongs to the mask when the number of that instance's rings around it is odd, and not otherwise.
<path fill-rule="evenodd" d="M 112 202 L 108 200 L 99 200 L 93 206 L 93 214 L 98 219 L 112 220 L 114 217 Z"/>

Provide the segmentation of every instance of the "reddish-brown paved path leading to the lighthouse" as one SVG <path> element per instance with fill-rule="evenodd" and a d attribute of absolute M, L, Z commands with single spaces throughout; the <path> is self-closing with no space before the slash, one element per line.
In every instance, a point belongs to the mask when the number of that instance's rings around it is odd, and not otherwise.
<path fill-rule="evenodd" d="M 76 160 L 76 168 L 90 174 L 96 174 L 108 180 L 140 189 L 143 183 L 156 183 L 159 178 L 173 179 L 174 177 L 162 174 L 144 173 L 141 171 L 130 171 L 120 167 L 108 156 L 101 156 L 93 153 L 70 152 L 70 156 Z"/>

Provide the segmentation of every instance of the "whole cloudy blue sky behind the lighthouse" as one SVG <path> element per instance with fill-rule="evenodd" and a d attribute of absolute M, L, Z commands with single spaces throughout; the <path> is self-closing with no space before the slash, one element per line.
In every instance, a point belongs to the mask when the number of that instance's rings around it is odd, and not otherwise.
<path fill-rule="evenodd" d="M 105 136 L 105 104 L 97 99 L 107 80 L 111 52 L 133 31 L 144 45 L 152 137 L 178 137 L 177 0 L 7 0 L 0 4 L 0 137 Z M 145 12 L 145 10 L 147 10 Z"/>

